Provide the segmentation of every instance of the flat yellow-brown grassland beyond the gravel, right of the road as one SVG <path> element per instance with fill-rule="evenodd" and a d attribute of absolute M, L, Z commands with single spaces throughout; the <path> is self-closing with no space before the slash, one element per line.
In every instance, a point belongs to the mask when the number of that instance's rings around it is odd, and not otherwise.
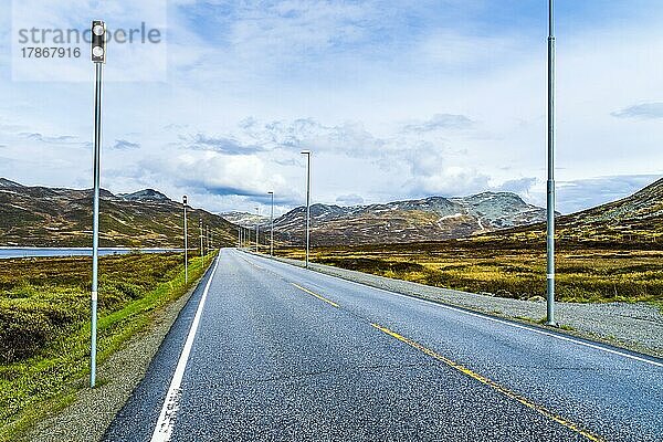
<path fill-rule="evenodd" d="M 299 249 L 280 249 L 302 259 Z M 541 244 L 450 241 L 320 248 L 312 261 L 438 287 L 530 299 L 546 295 Z M 566 243 L 556 259 L 557 298 L 565 302 L 663 301 L 663 251 Z"/>

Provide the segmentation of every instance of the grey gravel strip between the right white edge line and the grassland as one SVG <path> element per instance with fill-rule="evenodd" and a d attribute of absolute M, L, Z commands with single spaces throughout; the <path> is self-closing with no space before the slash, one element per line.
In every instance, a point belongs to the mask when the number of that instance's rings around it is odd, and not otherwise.
<path fill-rule="evenodd" d="M 276 257 L 276 260 L 304 266 L 302 261 L 284 257 Z M 534 323 L 537 326 L 536 323 L 546 316 L 545 302 L 477 295 L 316 263 L 311 263 L 309 269 L 377 288 L 527 324 Z M 562 327 L 559 332 L 651 356 L 663 357 L 663 313 L 654 305 L 646 303 L 557 303 L 555 314 L 557 322 Z"/>

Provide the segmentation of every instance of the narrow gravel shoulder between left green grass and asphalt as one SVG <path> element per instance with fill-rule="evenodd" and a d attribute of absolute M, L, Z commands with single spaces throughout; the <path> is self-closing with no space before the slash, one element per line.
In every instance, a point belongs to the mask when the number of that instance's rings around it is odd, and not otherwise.
<path fill-rule="evenodd" d="M 179 299 L 155 314 L 149 329 L 135 335 L 98 367 L 95 389 L 84 388 L 64 410 L 41 420 L 23 440 L 31 442 L 90 442 L 103 438 L 106 429 L 140 380 L 161 341 L 187 305 L 204 275 Z"/>

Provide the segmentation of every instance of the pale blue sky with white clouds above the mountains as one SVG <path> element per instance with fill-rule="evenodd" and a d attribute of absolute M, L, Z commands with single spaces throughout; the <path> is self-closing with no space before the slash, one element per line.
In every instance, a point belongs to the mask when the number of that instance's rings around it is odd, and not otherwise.
<path fill-rule="evenodd" d="M 165 31 L 144 56 L 114 59 L 109 43 L 113 192 L 265 211 L 273 190 L 284 211 L 304 201 L 311 149 L 316 202 L 507 190 L 545 203 L 545 0 L 18 3 L 0 3 L 2 177 L 91 187 L 88 49 L 71 71 L 34 64 L 45 77 L 30 81 L 15 32 L 102 18 Z M 663 176 L 662 22 L 659 0 L 557 1 L 560 211 Z"/>

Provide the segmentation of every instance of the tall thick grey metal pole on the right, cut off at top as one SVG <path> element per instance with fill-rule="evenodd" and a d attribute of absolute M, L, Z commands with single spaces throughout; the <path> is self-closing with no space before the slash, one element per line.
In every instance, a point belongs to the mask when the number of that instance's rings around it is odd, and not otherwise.
<path fill-rule="evenodd" d="M 548 183 L 547 183 L 547 317 L 546 324 L 555 322 L 555 7 L 548 0 Z"/>

